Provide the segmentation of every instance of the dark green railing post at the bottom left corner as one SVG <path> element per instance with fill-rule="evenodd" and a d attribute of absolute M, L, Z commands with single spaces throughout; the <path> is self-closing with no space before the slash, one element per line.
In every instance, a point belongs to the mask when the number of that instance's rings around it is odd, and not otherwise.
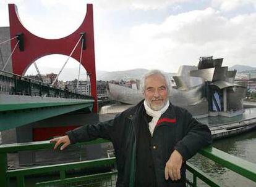
<path fill-rule="evenodd" d="M 7 153 L 0 153 L 0 184 L 1 186 L 8 186 L 6 172 L 7 172 Z"/>

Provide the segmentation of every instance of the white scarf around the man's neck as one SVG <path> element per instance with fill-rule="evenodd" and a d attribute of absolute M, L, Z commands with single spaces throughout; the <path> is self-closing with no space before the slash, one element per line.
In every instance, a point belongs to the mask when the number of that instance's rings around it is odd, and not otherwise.
<path fill-rule="evenodd" d="M 168 109 L 169 100 L 167 101 L 166 105 L 158 111 L 155 111 L 155 110 L 151 109 L 148 106 L 148 103 L 147 103 L 146 100 L 144 100 L 144 107 L 146 109 L 146 113 L 149 116 L 153 117 L 153 119 L 148 123 L 148 129 L 150 130 L 151 136 L 153 137 L 153 132 L 154 132 L 154 129 L 156 127 L 156 123 L 158 122 L 158 119 L 161 117 L 161 115 L 166 111 L 166 109 Z"/>

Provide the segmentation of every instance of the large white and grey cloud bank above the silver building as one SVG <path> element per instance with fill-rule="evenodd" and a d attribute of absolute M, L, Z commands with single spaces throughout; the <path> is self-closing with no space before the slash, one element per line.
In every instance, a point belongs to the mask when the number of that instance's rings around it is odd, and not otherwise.
<path fill-rule="evenodd" d="M 226 18 L 207 8 L 170 15 L 160 24 L 134 26 L 125 48 L 132 57 L 129 62 L 126 58 L 119 60 L 130 66 L 143 64 L 143 68 L 177 71 L 179 65 L 196 65 L 198 57 L 214 55 L 224 57 L 226 65 L 253 66 L 255 29 L 256 14 Z"/>

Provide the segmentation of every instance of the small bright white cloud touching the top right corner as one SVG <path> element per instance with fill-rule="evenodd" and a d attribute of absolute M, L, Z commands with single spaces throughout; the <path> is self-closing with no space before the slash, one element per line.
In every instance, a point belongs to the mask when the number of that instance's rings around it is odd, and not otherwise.
<path fill-rule="evenodd" d="M 244 6 L 253 6 L 256 9 L 255 0 L 212 0 L 211 5 L 224 12 L 241 9 Z"/>

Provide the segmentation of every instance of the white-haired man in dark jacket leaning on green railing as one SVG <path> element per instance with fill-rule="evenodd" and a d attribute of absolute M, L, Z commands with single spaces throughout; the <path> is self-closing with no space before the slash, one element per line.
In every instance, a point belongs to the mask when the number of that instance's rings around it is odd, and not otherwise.
<path fill-rule="evenodd" d="M 186 109 L 171 105 L 168 79 L 161 71 L 149 71 L 141 82 L 145 100 L 110 121 L 54 138 L 54 149 L 106 138 L 115 149 L 116 186 L 186 186 L 186 161 L 210 145 L 211 132 Z"/>

